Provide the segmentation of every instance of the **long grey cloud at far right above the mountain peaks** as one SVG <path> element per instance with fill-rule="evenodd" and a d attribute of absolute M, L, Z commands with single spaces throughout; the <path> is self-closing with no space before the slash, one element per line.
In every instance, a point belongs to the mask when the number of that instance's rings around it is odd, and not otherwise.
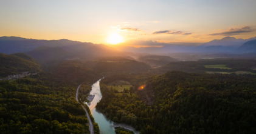
<path fill-rule="evenodd" d="M 230 35 L 240 35 L 241 33 L 249 33 L 249 32 L 254 32 L 255 29 L 251 27 L 242 27 L 242 28 L 229 28 L 229 30 L 220 32 L 220 33 L 212 33 L 209 35 L 223 35 L 223 36 L 230 36 Z"/>

